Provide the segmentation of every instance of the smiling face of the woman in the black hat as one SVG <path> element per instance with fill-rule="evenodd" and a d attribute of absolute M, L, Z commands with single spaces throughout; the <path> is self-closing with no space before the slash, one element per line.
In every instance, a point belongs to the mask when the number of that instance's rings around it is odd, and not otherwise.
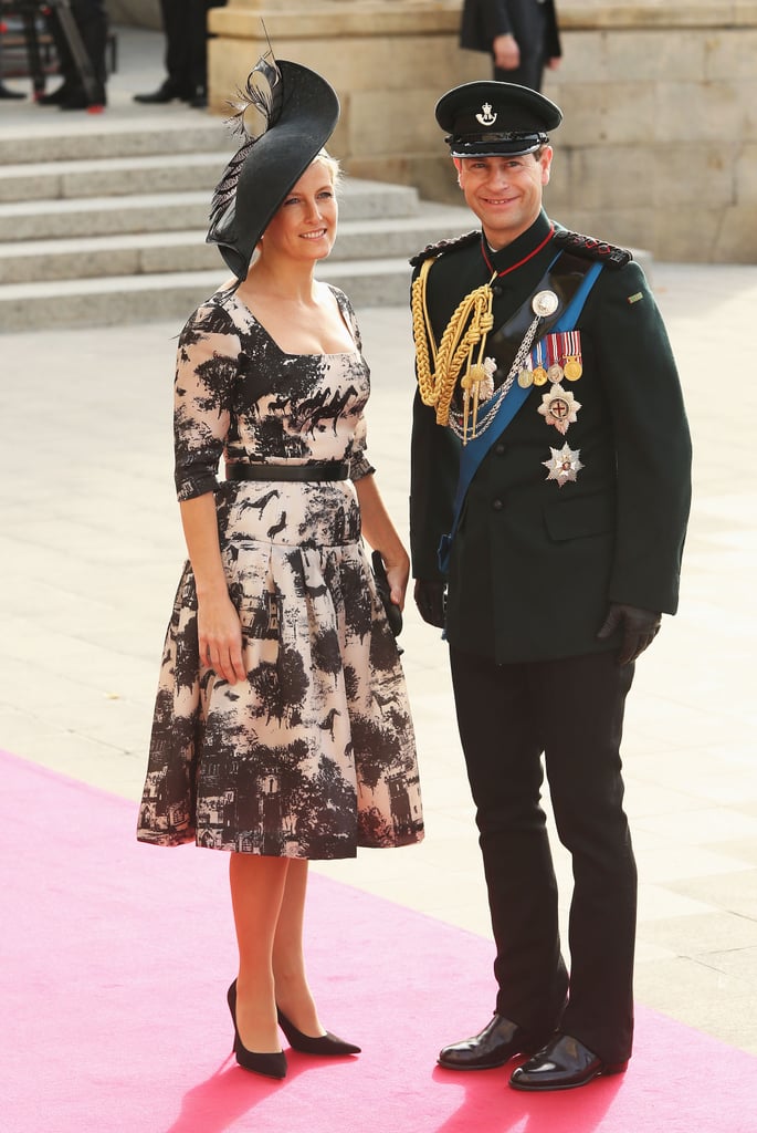
<path fill-rule="evenodd" d="M 261 250 L 322 259 L 334 247 L 338 208 L 334 178 L 320 157 L 308 165 L 263 235 Z"/>

